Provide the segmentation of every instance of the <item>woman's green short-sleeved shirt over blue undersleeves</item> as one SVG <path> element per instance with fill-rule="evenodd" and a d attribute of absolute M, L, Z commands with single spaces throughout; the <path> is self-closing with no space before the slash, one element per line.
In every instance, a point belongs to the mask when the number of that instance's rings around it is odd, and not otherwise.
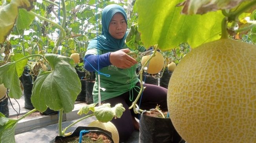
<path fill-rule="evenodd" d="M 144 51 L 145 48 L 140 47 L 139 50 Z M 99 49 L 100 55 L 107 52 L 109 51 Z M 85 53 L 85 55 L 88 54 L 97 55 L 98 49 L 90 48 Z M 139 82 L 138 75 L 136 74 L 136 66 L 137 65 L 134 65 L 133 67 L 127 69 L 120 69 L 114 65 L 110 65 L 100 69 L 100 73 L 110 75 L 109 77 L 107 77 L 100 74 L 100 87 L 105 89 L 105 91 L 100 91 L 101 101 L 122 95 L 123 93 L 129 91 L 133 86 L 135 86 L 135 84 Z M 98 81 L 98 72 L 96 71 L 96 81 L 93 87 L 94 103 L 98 103 Z"/>

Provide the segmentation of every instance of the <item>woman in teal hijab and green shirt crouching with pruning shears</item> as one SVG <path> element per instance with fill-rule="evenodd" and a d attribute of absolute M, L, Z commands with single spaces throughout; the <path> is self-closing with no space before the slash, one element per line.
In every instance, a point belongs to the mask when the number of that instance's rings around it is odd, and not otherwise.
<path fill-rule="evenodd" d="M 124 41 L 127 35 L 127 16 L 123 7 L 117 4 L 107 5 L 102 11 L 102 35 L 89 43 L 84 58 L 84 68 L 88 71 L 100 69 L 100 85 L 105 90 L 100 91 L 102 103 L 114 106 L 122 103 L 125 111 L 121 118 L 111 120 L 116 126 L 120 142 L 124 142 L 139 129 L 134 114 L 129 106 L 140 91 L 140 83 L 136 75 L 137 61 L 127 55 L 130 52 Z M 138 50 L 144 51 L 140 47 Z M 99 65 L 98 65 L 99 63 Z M 151 84 L 144 84 L 142 99 L 139 100 L 140 109 L 149 110 L 160 105 L 167 110 L 167 89 Z M 93 89 L 94 103 L 98 103 L 98 76 Z"/>

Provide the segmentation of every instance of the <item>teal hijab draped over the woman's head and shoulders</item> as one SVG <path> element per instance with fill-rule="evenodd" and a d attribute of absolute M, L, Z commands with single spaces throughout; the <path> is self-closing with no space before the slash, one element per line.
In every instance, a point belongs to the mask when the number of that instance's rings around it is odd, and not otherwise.
<path fill-rule="evenodd" d="M 122 13 L 127 24 L 127 15 L 123 7 L 117 4 L 107 5 L 102 11 L 102 34 L 92 39 L 88 45 L 88 48 L 98 47 L 100 50 L 120 50 L 124 45 L 127 32 L 122 39 L 115 39 L 109 34 L 109 22 L 116 13 Z"/>

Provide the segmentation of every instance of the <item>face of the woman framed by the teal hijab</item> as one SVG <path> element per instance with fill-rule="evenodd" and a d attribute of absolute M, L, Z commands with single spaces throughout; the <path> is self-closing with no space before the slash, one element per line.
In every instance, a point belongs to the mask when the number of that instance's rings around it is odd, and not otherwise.
<path fill-rule="evenodd" d="M 122 39 L 127 30 L 123 14 L 116 13 L 109 22 L 109 34 L 115 39 Z"/>

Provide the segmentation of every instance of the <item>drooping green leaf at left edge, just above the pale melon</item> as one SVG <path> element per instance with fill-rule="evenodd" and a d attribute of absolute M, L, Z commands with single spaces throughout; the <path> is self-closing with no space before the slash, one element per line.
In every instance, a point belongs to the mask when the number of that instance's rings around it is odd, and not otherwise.
<path fill-rule="evenodd" d="M 22 54 L 15 54 L 13 60 L 24 57 Z M 0 66 L 0 84 L 10 90 L 9 97 L 19 99 L 22 96 L 19 77 L 22 75 L 23 68 L 27 64 L 27 59 L 18 62 L 10 62 Z"/>

